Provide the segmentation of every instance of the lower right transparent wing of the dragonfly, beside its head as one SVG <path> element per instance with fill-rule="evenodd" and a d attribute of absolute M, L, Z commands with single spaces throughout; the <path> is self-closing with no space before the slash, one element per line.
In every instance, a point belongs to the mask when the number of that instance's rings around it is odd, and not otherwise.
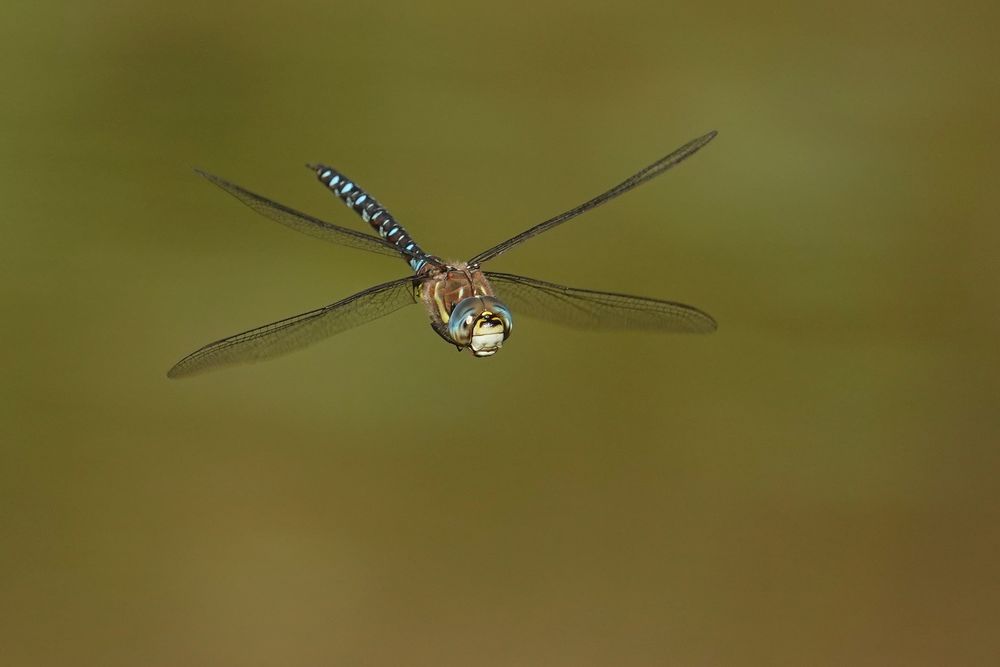
<path fill-rule="evenodd" d="M 581 329 L 644 329 L 711 333 L 711 315 L 683 303 L 615 292 L 595 292 L 525 276 L 485 271 L 497 298 L 519 314 Z"/>

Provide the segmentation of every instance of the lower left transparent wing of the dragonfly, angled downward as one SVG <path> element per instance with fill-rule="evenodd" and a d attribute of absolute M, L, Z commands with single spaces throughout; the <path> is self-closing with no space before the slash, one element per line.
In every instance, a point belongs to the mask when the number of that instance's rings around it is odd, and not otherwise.
<path fill-rule="evenodd" d="M 413 277 L 375 285 L 329 306 L 238 333 L 192 352 L 167 372 L 180 378 L 301 349 L 415 303 Z"/>

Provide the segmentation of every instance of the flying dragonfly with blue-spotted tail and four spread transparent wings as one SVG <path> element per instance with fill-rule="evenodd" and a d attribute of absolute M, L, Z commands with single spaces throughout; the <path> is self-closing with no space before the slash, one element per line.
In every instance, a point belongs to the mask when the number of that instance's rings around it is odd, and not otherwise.
<path fill-rule="evenodd" d="M 374 285 L 322 308 L 294 315 L 209 343 L 177 362 L 167 376 L 180 378 L 299 350 L 405 306 L 423 304 L 431 328 L 474 357 L 497 353 L 511 335 L 513 314 L 590 330 L 639 329 L 710 333 L 716 322 L 683 303 L 601 292 L 486 271 L 484 263 L 652 180 L 694 155 L 715 138 L 712 131 L 689 141 L 610 190 L 589 199 L 464 262 L 447 262 L 424 252 L 396 218 L 367 191 L 332 167 L 306 165 L 330 192 L 377 233 L 341 227 L 253 193 L 218 176 L 197 173 L 257 213 L 298 232 L 342 246 L 402 256 L 411 272 Z"/>

